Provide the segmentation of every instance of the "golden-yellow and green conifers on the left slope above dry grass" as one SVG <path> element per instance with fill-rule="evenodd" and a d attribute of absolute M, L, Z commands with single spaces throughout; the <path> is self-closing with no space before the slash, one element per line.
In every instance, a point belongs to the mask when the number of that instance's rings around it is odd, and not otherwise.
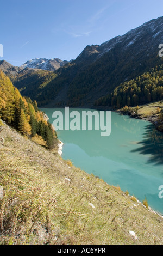
<path fill-rule="evenodd" d="M 57 136 L 45 114 L 39 111 L 36 101 L 22 97 L 3 71 L 0 71 L 0 117 L 33 141 L 48 149 L 55 147 Z"/>

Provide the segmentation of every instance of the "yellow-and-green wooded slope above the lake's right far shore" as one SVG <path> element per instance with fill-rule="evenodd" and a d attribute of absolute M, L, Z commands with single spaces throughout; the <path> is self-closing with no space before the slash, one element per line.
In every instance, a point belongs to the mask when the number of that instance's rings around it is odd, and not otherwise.
<path fill-rule="evenodd" d="M 149 72 L 124 82 L 95 102 L 96 106 L 136 106 L 163 99 L 163 64 Z"/>

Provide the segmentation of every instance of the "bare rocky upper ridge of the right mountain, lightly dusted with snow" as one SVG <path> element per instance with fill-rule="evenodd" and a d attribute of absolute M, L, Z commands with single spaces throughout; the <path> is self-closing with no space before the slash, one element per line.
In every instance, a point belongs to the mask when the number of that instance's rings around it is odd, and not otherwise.
<path fill-rule="evenodd" d="M 132 29 L 122 36 L 116 36 L 101 45 L 86 46 L 83 52 L 77 57 L 76 62 L 84 62 L 90 56 L 93 56 L 93 59 L 96 60 L 113 49 L 117 48 L 117 51 L 120 50 L 120 45 L 124 52 L 129 46 L 133 45 L 135 47 L 134 53 L 137 55 L 142 51 L 147 54 L 153 53 L 153 48 L 156 47 L 158 50 L 158 44 L 161 44 L 163 39 L 162 24 L 163 17 L 159 17 L 158 19 L 144 23 L 136 29 Z"/>

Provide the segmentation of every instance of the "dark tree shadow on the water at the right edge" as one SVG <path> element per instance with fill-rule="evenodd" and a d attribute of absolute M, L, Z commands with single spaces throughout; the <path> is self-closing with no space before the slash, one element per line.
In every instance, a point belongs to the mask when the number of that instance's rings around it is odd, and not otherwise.
<path fill-rule="evenodd" d="M 151 154 L 149 163 L 163 164 L 163 133 L 155 129 L 154 125 L 145 127 L 144 139 L 139 142 L 140 148 L 131 150 L 140 154 Z"/>

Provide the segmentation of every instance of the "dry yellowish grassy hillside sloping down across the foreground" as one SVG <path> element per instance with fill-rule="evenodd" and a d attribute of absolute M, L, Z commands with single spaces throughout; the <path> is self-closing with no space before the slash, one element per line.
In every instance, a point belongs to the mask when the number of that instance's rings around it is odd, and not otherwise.
<path fill-rule="evenodd" d="M 163 218 L 136 198 L 7 125 L 1 136 L 1 245 L 163 244 Z"/>

